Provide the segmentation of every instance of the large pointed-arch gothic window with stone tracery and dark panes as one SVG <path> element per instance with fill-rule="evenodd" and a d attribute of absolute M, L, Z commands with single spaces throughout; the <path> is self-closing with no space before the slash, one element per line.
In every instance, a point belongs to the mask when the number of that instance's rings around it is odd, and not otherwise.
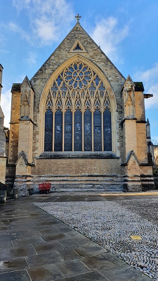
<path fill-rule="evenodd" d="M 45 106 L 45 151 L 111 151 L 111 104 L 90 67 L 74 63 L 54 79 Z"/>

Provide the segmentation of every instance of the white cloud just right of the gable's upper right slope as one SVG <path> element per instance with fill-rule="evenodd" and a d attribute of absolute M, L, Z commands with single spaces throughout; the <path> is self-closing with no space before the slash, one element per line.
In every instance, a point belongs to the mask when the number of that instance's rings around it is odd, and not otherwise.
<path fill-rule="evenodd" d="M 91 37 L 98 45 L 100 44 L 101 49 L 111 60 L 116 61 L 117 45 L 128 36 L 128 32 L 128 25 L 119 28 L 117 19 L 109 17 L 97 22 Z"/>

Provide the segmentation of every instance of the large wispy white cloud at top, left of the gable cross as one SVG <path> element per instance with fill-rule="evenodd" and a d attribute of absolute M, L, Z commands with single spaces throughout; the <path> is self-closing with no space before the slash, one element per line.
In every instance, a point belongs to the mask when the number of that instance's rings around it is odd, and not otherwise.
<path fill-rule="evenodd" d="M 27 41 L 50 45 L 67 32 L 74 20 L 72 4 L 67 0 L 13 0 L 13 6 L 20 12 L 26 10 L 29 18 L 30 36 L 22 28 L 12 23 L 13 31 L 21 34 Z"/>

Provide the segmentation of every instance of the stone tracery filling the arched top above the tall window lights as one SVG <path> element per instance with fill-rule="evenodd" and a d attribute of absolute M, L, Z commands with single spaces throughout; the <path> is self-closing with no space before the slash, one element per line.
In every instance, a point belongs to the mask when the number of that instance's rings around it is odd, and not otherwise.
<path fill-rule="evenodd" d="M 108 92 L 98 74 L 83 63 L 74 63 L 60 73 L 49 90 L 45 112 L 50 108 L 52 112 L 58 109 L 71 112 L 87 109 L 94 112 L 99 109 L 111 112 Z"/>

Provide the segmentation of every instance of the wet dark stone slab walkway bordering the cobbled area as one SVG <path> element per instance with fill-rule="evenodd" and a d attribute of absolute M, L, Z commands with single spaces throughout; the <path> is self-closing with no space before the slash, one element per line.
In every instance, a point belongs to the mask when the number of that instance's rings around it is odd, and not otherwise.
<path fill-rule="evenodd" d="M 33 202 L 157 198 L 146 195 L 30 196 L 0 205 L 1 281 L 147 281 L 105 248 Z"/>

